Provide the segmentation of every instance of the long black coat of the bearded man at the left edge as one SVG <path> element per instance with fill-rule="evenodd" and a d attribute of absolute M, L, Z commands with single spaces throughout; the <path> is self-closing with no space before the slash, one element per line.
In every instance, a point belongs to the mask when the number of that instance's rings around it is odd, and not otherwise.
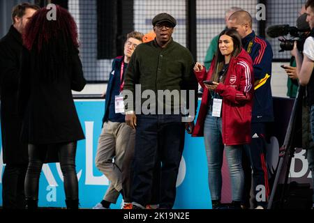
<path fill-rule="evenodd" d="M 17 114 L 22 36 L 13 27 L 0 40 L 0 94 L 3 162 L 27 164 L 27 144 L 20 142 L 22 118 Z"/>

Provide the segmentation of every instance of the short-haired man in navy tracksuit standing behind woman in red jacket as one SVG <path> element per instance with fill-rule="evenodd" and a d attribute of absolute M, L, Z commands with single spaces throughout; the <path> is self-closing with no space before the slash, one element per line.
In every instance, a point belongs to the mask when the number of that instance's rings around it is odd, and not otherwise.
<path fill-rule="evenodd" d="M 242 45 L 253 60 L 254 70 L 254 104 L 252 111 L 252 141 L 247 147 L 246 156 L 250 159 L 253 169 L 254 194 L 257 201 L 257 209 L 267 206 L 270 188 L 267 176 L 267 164 L 265 160 L 267 123 L 274 121 L 273 100 L 271 96 L 271 61 L 273 52 L 271 45 L 258 36 L 252 29 L 251 15 L 240 10 L 229 17 L 229 27 L 236 29 L 241 38 Z M 248 205 L 251 189 L 251 168 L 245 162 L 244 171 L 246 175 L 246 185 L 244 190 L 244 201 Z M 261 193 L 262 192 L 262 193 Z"/>

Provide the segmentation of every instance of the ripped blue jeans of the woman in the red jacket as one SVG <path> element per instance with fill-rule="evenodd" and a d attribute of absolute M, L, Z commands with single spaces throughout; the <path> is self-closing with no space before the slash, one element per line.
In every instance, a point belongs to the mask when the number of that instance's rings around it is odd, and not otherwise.
<path fill-rule="evenodd" d="M 223 167 L 223 149 L 225 148 L 231 178 L 232 201 L 241 201 L 244 190 L 244 173 L 242 169 L 242 149 L 244 149 L 244 145 L 224 146 L 221 118 L 211 116 L 210 111 L 204 123 L 204 142 L 207 153 L 211 200 L 221 199 L 221 167 Z"/>

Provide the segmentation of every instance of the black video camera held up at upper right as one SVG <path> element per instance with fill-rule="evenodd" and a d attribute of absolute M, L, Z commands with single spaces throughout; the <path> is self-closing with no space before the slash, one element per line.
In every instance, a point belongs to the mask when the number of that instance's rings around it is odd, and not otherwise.
<path fill-rule="evenodd" d="M 302 52 L 304 42 L 308 37 L 310 31 L 311 28 L 308 25 L 308 22 L 306 22 L 306 14 L 304 13 L 303 15 L 300 15 L 298 17 L 297 27 L 290 26 L 288 24 L 274 25 L 269 26 L 266 30 L 266 33 L 270 38 L 276 38 L 279 36 L 283 37 L 283 39 L 278 39 L 279 41 L 281 41 L 281 50 L 279 50 L 279 52 L 292 50 L 294 41 L 297 41 L 297 49 Z M 287 39 L 284 37 L 288 34 L 290 34 L 292 38 Z"/>

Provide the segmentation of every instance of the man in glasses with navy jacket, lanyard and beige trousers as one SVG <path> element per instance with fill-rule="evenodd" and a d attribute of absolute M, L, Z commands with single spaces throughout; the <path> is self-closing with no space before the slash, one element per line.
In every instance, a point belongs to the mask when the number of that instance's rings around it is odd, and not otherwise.
<path fill-rule="evenodd" d="M 124 44 L 124 56 L 118 56 L 112 62 L 112 72 L 107 85 L 105 97 L 105 114 L 103 116 L 103 130 L 98 139 L 96 154 L 96 167 L 110 180 L 110 186 L 100 203 L 94 209 L 110 208 L 111 203 L 116 203 L 119 194 L 124 199 L 129 192 L 124 194 L 123 188 L 123 164 L 124 155 L 128 148 L 134 144 L 135 131 L 125 123 L 125 115 L 119 109 L 124 105 L 121 91 L 124 89 L 124 75 L 130 57 L 137 45 L 142 43 L 143 34 L 137 31 L 128 33 Z M 128 156 L 132 158 L 132 154 Z M 112 162 L 114 160 L 114 162 Z"/>

